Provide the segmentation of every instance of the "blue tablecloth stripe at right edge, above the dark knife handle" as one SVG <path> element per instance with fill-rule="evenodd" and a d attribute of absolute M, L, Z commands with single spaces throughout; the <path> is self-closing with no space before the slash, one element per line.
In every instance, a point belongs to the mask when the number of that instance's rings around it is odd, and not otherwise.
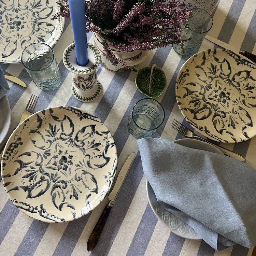
<path fill-rule="evenodd" d="M 254 12 L 252 20 L 246 31 L 243 43 L 241 45 L 241 49 L 251 53 L 255 45 L 255 39 L 256 39 L 256 11 Z"/>

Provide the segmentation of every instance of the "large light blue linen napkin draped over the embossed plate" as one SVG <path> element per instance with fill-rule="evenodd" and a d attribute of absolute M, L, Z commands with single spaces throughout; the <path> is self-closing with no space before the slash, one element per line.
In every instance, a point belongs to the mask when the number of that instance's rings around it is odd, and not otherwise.
<path fill-rule="evenodd" d="M 256 245 L 256 170 L 231 157 L 160 138 L 137 140 L 158 202 L 215 250 Z"/>

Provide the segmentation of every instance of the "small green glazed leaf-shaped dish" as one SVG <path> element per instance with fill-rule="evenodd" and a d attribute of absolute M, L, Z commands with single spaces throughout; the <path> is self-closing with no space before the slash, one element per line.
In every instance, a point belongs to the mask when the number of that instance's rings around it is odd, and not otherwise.
<path fill-rule="evenodd" d="M 166 87 L 166 75 L 154 64 L 138 71 L 135 84 L 138 90 L 149 98 L 157 98 Z"/>

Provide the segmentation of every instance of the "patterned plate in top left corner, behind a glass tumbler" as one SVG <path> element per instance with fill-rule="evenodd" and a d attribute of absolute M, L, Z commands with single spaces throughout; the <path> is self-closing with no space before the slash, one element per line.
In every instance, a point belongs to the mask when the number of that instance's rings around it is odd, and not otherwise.
<path fill-rule="evenodd" d="M 0 1 L 0 62 L 19 63 L 23 50 L 32 43 L 53 47 L 63 32 L 64 18 L 51 20 L 57 1 Z"/>

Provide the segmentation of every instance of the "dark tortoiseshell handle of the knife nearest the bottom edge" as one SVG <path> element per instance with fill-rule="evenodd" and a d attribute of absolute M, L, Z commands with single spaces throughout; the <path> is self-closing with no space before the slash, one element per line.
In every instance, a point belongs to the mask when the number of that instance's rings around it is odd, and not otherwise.
<path fill-rule="evenodd" d="M 93 250 L 95 248 L 95 246 L 97 245 L 97 243 L 100 239 L 102 230 L 105 226 L 106 220 L 108 219 L 110 210 L 112 208 L 112 204 L 113 204 L 113 202 L 109 201 L 109 203 L 106 205 L 105 209 L 101 213 L 100 218 L 99 218 L 98 222 L 96 223 L 93 231 L 91 232 L 90 237 L 87 242 L 87 251 L 88 252 Z"/>

